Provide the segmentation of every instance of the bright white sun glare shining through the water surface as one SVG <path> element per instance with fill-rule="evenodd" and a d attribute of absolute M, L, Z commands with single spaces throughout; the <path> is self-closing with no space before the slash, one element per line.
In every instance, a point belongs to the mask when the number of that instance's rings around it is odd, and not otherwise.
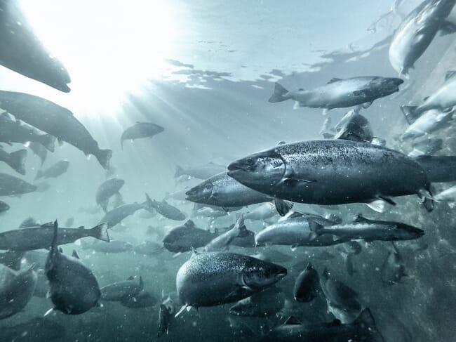
<path fill-rule="evenodd" d="M 175 8 L 158 0 L 20 0 L 39 39 L 72 77 L 69 105 L 114 115 L 127 93 L 160 79 L 177 44 Z M 68 98 L 70 98 L 68 97 Z"/>

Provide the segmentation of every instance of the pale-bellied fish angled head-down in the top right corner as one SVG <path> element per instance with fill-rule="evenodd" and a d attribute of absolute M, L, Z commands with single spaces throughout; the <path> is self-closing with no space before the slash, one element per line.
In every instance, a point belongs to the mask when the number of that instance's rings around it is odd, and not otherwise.
<path fill-rule="evenodd" d="M 389 46 L 389 62 L 399 77 L 408 77 L 408 71 L 439 30 L 455 32 L 456 25 L 445 21 L 455 3 L 455 0 L 423 1 L 401 22 Z"/>

